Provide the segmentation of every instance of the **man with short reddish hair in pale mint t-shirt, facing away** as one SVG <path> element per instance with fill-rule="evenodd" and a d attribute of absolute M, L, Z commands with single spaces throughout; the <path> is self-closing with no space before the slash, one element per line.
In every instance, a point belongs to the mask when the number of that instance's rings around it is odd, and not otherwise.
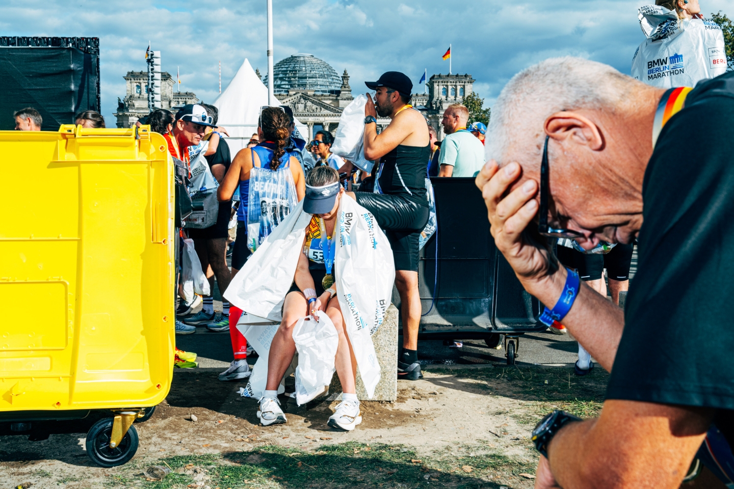
<path fill-rule="evenodd" d="M 469 109 L 453 103 L 443 112 L 439 177 L 474 177 L 484 165 L 484 146 L 469 132 Z"/>

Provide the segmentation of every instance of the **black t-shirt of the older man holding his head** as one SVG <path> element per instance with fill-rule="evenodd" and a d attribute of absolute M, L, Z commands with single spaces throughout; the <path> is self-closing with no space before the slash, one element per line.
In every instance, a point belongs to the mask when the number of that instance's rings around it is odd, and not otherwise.
<path fill-rule="evenodd" d="M 733 410 L 734 73 L 700 82 L 664 126 L 642 198 L 606 397 Z"/>

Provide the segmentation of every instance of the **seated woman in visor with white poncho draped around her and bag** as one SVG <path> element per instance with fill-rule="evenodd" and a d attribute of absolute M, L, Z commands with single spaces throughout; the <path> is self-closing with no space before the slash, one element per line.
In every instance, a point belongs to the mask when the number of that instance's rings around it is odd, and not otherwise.
<path fill-rule="evenodd" d="M 390 304 L 392 251 L 374 216 L 344 195 L 335 169 L 311 170 L 305 199 L 225 291 L 245 312 L 238 328 L 260 348 L 241 394 L 260 399 L 264 426 L 286 422 L 277 394 L 296 353 L 299 405 L 327 391 L 334 370 L 338 374 L 342 402 L 330 427 L 353 430 L 362 421 L 357 366 L 369 397 L 379 381 L 371 334 Z M 269 326 L 268 320 L 280 324 Z"/>

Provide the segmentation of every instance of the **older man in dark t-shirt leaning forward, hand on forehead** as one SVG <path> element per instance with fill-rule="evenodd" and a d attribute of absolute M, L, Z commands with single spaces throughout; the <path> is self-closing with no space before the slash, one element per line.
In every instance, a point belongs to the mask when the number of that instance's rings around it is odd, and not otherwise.
<path fill-rule="evenodd" d="M 734 73 L 659 89 L 571 57 L 518 73 L 495 103 L 476 184 L 497 248 L 555 304 L 540 320 L 611 371 L 599 418 L 553 411 L 533 431 L 536 488 L 674 489 L 694 456 L 732 483 L 733 114 Z M 625 311 L 559 267 L 545 238 L 637 238 Z"/>

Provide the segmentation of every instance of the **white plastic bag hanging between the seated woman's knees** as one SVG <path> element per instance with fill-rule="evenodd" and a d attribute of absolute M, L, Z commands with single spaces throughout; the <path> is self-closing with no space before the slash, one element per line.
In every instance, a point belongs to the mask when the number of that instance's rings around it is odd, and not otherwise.
<path fill-rule="evenodd" d="M 296 402 L 305 404 L 329 388 L 336 371 L 334 359 L 339 335 L 334 323 L 324 312 L 316 312 L 318 320 L 302 317 L 293 328 L 298 351 L 296 368 Z"/>

